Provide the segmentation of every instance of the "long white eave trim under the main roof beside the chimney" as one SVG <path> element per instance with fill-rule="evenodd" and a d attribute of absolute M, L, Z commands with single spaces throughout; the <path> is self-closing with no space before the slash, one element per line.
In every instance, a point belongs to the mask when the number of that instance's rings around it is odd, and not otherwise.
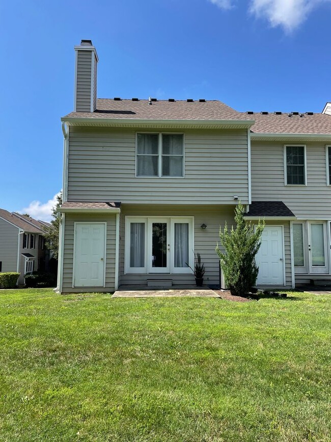
<path fill-rule="evenodd" d="M 241 128 L 250 128 L 255 123 L 254 120 L 154 120 L 149 118 L 86 118 L 86 117 L 62 117 L 61 121 L 70 123 L 104 123 L 107 125 L 112 124 L 185 124 L 187 126 L 194 127 L 215 125 L 220 127 L 225 126 L 239 126 Z M 329 136 L 331 138 L 331 136 Z"/>

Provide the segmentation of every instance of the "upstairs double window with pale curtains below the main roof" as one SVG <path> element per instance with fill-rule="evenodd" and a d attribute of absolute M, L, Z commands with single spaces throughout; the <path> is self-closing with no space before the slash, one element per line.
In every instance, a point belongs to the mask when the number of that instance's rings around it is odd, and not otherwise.
<path fill-rule="evenodd" d="M 137 134 L 137 176 L 184 176 L 183 134 Z"/>

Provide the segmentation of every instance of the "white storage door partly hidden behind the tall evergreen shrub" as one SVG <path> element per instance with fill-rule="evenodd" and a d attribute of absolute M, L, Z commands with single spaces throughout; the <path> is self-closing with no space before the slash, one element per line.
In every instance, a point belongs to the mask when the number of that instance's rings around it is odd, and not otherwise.
<path fill-rule="evenodd" d="M 265 226 L 255 257 L 259 267 L 257 285 L 284 285 L 283 227 Z"/>

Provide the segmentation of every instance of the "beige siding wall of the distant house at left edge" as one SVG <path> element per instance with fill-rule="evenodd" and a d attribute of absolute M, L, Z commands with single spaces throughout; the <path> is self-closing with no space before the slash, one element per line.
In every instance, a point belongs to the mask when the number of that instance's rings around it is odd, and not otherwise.
<path fill-rule="evenodd" d="M 18 228 L 0 218 L 0 262 L 2 272 L 17 271 Z"/>

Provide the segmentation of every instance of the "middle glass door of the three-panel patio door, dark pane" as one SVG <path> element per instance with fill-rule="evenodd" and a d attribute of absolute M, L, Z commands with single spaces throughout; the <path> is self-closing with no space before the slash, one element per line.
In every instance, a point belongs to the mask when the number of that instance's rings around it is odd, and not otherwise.
<path fill-rule="evenodd" d="M 149 273 L 170 273 L 169 224 L 168 218 L 149 220 Z"/>

